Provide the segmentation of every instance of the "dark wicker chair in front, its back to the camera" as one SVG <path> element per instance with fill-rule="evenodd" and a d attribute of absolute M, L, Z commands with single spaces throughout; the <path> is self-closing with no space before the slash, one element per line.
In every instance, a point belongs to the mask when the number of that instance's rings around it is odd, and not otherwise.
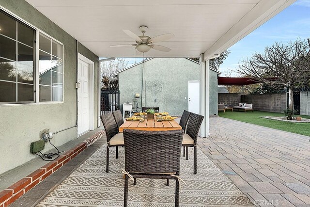
<path fill-rule="evenodd" d="M 176 181 L 175 206 L 179 206 L 180 154 L 183 130 L 140 131 L 124 129 L 125 171 L 136 184 L 137 178 L 157 178 Z M 125 174 L 124 207 L 128 200 L 128 179 Z"/>

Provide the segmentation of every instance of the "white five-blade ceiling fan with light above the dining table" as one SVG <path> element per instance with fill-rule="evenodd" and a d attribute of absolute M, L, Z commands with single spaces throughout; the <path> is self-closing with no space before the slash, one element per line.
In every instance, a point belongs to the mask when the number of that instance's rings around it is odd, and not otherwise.
<path fill-rule="evenodd" d="M 174 34 L 168 33 L 168 34 L 162 34 L 158 35 L 156 37 L 149 37 L 144 35 L 144 33 L 148 30 L 146 26 L 140 26 L 140 31 L 142 32 L 141 36 L 136 35 L 134 32 L 131 32 L 130 30 L 123 30 L 128 36 L 136 40 L 137 44 L 127 44 L 127 45 L 112 45 L 110 47 L 127 47 L 127 46 L 134 46 L 139 52 L 145 53 L 148 52 L 151 48 L 163 52 L 169 52 L 171 49 L 161 46 L 161 45 L 153 45 L 153 43 L 161 42 L 168 40 L 172 37 L 174 37 Z"/>

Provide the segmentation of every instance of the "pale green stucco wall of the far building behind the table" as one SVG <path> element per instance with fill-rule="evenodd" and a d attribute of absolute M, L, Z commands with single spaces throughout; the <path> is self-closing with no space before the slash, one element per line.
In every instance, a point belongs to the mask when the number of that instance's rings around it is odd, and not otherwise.
<path fill-rule="evenodd" d="M 133 102 L 135 94 L 142 95 L 143 64 L 138 64 L 119 73 L 120 107 Z M 210 70 L 212 96 L 210 114 L 217 113 L 217 72 Z M 215 77 L 215 78 L 214 78 Z M 188 110 L 188 81 L 200 80 L 200 65 L 186 58 L 154 58 L 144 63 L 143 107 L 159 107 L 171 115 L 181 116 Z M 216 85 L 214 85 L 216 84 Z M 185 99 L 186 97 L 186 99 Z M 155 101 L 156 100 L 156 101 Z M 141 97 L 138 98 L 141 109 Z"/>

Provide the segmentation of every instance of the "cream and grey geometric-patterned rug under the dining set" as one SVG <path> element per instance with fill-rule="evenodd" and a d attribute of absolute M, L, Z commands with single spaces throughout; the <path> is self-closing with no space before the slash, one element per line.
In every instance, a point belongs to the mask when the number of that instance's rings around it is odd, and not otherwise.
<path fill-rule="evenodd" d="M 191 150 L 189 150 L 190 152 Z M 198 174 L 194 175 L 194 153 L 181 157 L 180 207 L 253 207 L 217 166 L 198 148 Z M 110 148 L 109 173 L 106 173 L 106 145 L 69 175 L 37 207 L 121 207 L 124 205 L 124 148 Z M 166 186 L 163 179 L 129 180 L 128 207 L 174 206 L 175 181 Z"/>

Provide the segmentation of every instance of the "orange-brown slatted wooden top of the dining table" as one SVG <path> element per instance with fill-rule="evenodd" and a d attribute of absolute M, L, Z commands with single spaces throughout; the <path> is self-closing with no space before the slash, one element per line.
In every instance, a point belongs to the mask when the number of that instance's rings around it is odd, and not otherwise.
<path fill-rule="evenodd" d="M 120 126 L 119 131 L 123 132 L 125 128 L 144 131 L 169 131 L 182 129 L 182 127 L 174 120 L 157 122 L 154 119 L 145 119 L 144 122 L 125 121 L 125 123 Z"/>

